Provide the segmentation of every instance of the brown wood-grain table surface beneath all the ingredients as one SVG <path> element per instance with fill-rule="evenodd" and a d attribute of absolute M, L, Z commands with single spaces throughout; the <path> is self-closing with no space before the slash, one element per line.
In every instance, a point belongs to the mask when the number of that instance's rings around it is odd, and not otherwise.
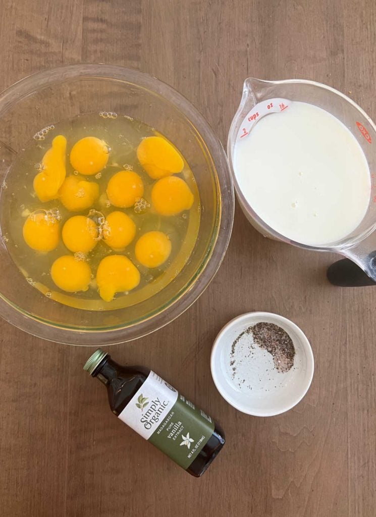
<path fill-rule="evenodd" d="M 0 89 L 67 63 L 116 63 L 177 88 L 225 144 L 246 77 L 333 86 L 376 117 L 372 0 L 2 0 Z M 213 415 L 227 443 L 195 479 L 110 412 L 82 370 L 91 349 L 0 323 L 0 515 L 371 517 L 376 507 L 376 288 L 325 279 L 334 255 L 263 238 L 236 207 L 224 263 L 200 299 L 162 330 L 111 348 L 152 367 Z M 272 418 L 218 394 L 218 330 L 254 310 L 307 334 L 311 388 Z"/>

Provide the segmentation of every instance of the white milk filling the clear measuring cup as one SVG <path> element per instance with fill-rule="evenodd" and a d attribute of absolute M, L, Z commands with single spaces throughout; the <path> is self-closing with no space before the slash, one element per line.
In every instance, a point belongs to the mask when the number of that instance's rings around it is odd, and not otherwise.
<path fill-rule="evenodd" d="M 336 117 L 306 102 L 257 121 L 234 149 L 239 187 L 273 230 L 310 246 L 345 238 L 370 202 L 368 163 Z"/>

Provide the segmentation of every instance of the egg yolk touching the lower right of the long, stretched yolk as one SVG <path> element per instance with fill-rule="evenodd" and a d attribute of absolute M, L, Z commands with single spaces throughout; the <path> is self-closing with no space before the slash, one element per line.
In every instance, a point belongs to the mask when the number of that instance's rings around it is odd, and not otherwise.
<path fill-rule="evenodd" d="M 98 199 L 99 186 L 80 176 L 69 176 L 59 190 L 61 203 L 72 212 L 86 210 Z"/>

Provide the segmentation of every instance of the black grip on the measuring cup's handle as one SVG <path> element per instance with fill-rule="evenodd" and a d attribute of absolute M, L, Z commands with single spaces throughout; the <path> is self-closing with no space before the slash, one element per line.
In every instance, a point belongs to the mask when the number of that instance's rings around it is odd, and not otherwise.
<path fill-rule="evenodd" d="M 369 255 L 368 266 L 372 271 L 374 269 L 375 252 Z M 363 271 L 350 258 L 342 258 L 328 267 L 326 272 L 327 279 L 333 285 L 341 287 L 363 287 L 365 285 L 376 285 L 367 273 Z"/>

